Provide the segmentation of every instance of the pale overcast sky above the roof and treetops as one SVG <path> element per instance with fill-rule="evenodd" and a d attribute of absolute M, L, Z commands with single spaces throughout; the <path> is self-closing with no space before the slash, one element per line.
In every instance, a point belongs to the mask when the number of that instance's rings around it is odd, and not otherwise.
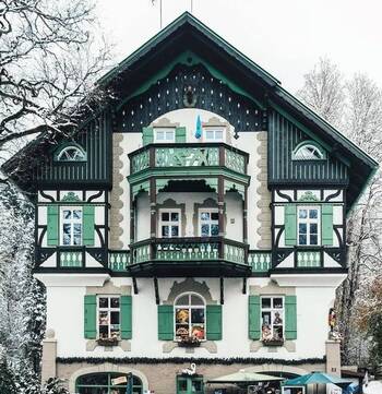
<path fill-rule="evenodd" d="M 159 31 L 159 1 L 97 0 L 120 61 Z M 191 0 L 163 0 L 164 26 Z M 193 15 L 282 81 L 291 93 L 326 56 L 346 76 L 368 73 L 382 86 L 381 0 L 193 0 Z"/>

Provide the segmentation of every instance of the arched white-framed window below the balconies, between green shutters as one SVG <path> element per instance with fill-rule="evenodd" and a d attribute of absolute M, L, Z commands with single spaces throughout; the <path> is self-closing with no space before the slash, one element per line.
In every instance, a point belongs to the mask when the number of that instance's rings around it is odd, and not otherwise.
<path fill-rule="evenodd" d="M 179 296 L 174 305 L 175 339 L 192 337 L 205 339 L 205 301 L 194 294 Z"/>

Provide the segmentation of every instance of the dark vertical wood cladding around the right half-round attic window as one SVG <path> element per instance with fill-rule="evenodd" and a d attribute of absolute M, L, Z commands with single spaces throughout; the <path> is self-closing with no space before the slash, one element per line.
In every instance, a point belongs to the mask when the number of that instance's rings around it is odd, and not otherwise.
<path fill-rule="evenodd" d="M 348 166 L 325 151 L 320 160 L 294 160 L 294 150 L 311 141 L 305 130 L 277 112 L 268 114 L 268 182 L 270 184 L 342 184 L 349 180 Z"/>

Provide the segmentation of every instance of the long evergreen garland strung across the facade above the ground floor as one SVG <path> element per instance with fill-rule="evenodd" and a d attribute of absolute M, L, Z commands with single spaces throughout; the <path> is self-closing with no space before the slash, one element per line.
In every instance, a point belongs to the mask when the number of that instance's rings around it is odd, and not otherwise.
<path fill-rule="evenodd" d="M 196 365 L 223 365 L 231 366 L 232 363 L 243 363 L 260 366 L 264 363 L 274 363 L 283 366 L 301 366 L 303 363 L 324 363 L 326 357 L 322 358 L 301 358 L 298 360 L 285 360 L 274 358 L 252 358 L 252 357 L 231 357 L 231 358 L 187 358 L 187 357 L 171 357 L 171 358 L 148 358 L 148 357 L 57 357 L 57 362 L 60 363 L 94 363 L 99 365 L 104 362 L 111 363 L 146 363 L 146 365 L 159 365 L 159 363 L 190 363 Z"/>

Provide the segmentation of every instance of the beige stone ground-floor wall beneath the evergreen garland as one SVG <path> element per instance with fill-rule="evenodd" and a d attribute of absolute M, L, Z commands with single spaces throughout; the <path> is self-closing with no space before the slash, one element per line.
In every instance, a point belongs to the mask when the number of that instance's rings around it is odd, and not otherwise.
<path fill-rule="evenodd" d="M 176 394 L 177 393 L 177 375 L 182 374 L 182 370 L 190 369 L 189 362 L 163 362 L 163 360 L 147 359 L 146 362 L 131 362 L 126 361 L 112 361 L 112 362 L 100 362 L 99 359 L 95 360 L 58 360 L 56 363 L 57 377 L 63 380 L 63 384 L 69 389 L 70 393 L 76 393 L 76 382 L 81 375 L 89 373 L 105 373 L 105 372 L 117 372 L 117 373 L 129 373 L 131 372 L 134 377 L 139 378 L 142 382 L 142 393 L 147 390 L 155 392 L 155 394 Z M 326 366 L 324 360 L 315 360 L 314 362 L 290 362 L 286 363 L 261 363 L 260 360 L 250 363 L 246 362 L 232 362 L 228 363 L 211 361 L 198 361 L 195 374 L 203 379 L 204 382 L 210 379 L 218 378 L 225 374 L 238 372 L 241 369 L 253 372 L 278 372 L 285 377 L 301 375 L 311 371 L 325 371 Z M 216 362 L 216 363 L 215 363 Z M 256 363 L 256 365 L 255 365 Z M 204 393 L 212 394 L 214 390 L 218 389 L 216 385 L 205 384 Z"/>

